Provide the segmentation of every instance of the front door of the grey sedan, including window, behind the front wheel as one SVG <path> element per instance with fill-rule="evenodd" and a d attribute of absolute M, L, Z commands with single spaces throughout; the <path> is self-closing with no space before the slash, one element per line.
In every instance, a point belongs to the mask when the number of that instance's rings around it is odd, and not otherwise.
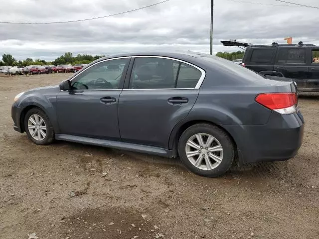
<path fill-rule="evenodd" d="M 60 133 L 120 139 L 118 103 L 129 61 L 104 60 L 71 79 L 71 90 L 57 96 Z"/>

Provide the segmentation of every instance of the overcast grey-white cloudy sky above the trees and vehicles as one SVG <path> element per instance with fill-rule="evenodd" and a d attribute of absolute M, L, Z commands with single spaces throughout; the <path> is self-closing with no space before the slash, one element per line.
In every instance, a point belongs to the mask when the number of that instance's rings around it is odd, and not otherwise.
<path fill-rule="evenodd" d="M 0 21 L 77 20 L 159 1 L 1 0 Z M 319 6 L 319 0 L 288 1 Z M 210 2 L 169 0 L 135 12 L 74 23 L 0 23 L 0 55 L 9 53 L 18 60 L 26 57 L 53 60 L 66 51 L 74 55 L 175 49 L 208 53 Z M 293 36 L 294 43 L 303 40 L 319 45 L 319 9 L 287 5 L 276 0 L 215 0 L 213 52 L 239 50 L 221 45 L 221 40 L 228 39 L 264 44 L 285 43 L 284 37 Z"/>

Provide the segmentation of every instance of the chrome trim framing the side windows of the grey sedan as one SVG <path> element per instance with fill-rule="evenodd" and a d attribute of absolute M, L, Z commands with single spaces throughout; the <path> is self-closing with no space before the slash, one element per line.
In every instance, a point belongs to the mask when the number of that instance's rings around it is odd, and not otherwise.
<path fill-rule="evenodd" d="M 110 59 L 105 59 L 105 60 L 102 60 L 102 61 L 99 61 L 99 62 L 96 62 L 94 63 L 93 65 L 91 65 L 90 67 L 88 68 L 84 68 L 83 71 L 80 71 L 77 75 L 73 76 L 69 81 L 71 82 L 74 78 L 78 77 L 80 74 L 82 74 L 83 72 L 85 72 L 86 70 L 90 69 L 92 66 L 95 66 L 96 64 L 99 64 L 101 62 L 105 62 L 105 61 L 110 61 L 110 60 L 117 60 L 117 59 L 124 59 L 124 58 L 140 58 L 140 57 L 148 57 L 148 58 L 163 58 L 163 59 L 169 59 L 169 60 L 173 60 L 173 61 L 178 61 L 178 62 L 182 62 L 182 63 L 185 63 L 187 65 L 190 65 L 194 68 L 196 68 L 197 70 L 199 70 L 201 72 L 201 76 L 195 86 L 195 88 L 159 88 L 159 89 L 103 89 L 103 90 L 74 90 L 74 91 L 145 91 L 145 90 L 152 90 L 152 91 L 155 91 L 155 90 L 194 90 L 194 89 L 199 89 L 205 79 L 205 76 L 206 76 L 206 72 L 192 64 L 192 63 L 189 63 L 187 61 L 183 61 L 183 60 L 180 60 L 180 59 L 177 59 L 177 58 L 172 58 L 172 57 L 166 57 L 166 56 L 153 56 L 153 55 L 150 55 L 150 56 L 147 56 L 147 55 L 143 55 L 143 56 L 122 56 L 122 57 L 115 57 L 115 58 L 110 58 Z"/>

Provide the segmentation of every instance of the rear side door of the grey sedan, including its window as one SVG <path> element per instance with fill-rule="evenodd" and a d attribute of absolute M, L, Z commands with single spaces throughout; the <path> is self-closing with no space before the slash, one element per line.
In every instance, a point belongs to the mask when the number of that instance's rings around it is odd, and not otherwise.
<path fill-rule="evenodd" d="M 178 60 L 136 57 L 119 100 L 122 140 L 167 148 L 173 127 L 195 104 L 204 77 L 201 69 Z"/>

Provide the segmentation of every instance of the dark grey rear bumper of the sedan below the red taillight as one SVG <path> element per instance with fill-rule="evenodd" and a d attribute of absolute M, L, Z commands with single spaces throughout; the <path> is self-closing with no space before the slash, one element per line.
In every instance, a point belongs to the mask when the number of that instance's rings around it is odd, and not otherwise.
<path fill-rule="evenodd" d="M 301 113 L 271 114 L 265 125 L 225 126 L 233 136 L 242 163 L 282 161 L 296 156 L 303 142 Z"/>

